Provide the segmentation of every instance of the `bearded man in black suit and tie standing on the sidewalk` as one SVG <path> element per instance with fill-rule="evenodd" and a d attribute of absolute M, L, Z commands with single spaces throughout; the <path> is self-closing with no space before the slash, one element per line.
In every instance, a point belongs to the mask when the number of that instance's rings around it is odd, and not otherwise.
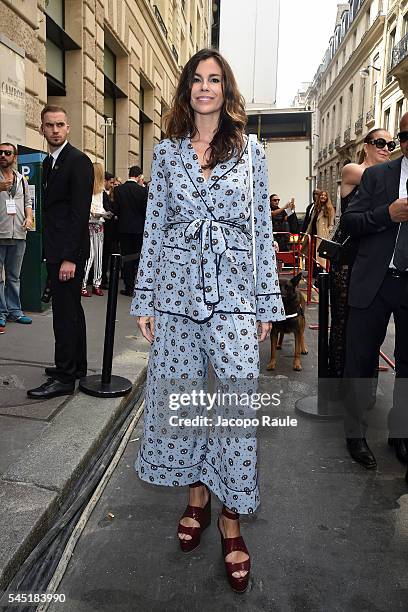
<path fill-rule="evenodd" d="M 86 375 L 86 326 L 81 285 L 89 257 L 88 220 L 93 167 L 87 155 L 67 140 L 69 124 L 60 106 L 46 106 L 41 132 L 50 154 L 43 164 L 43 245 L 51 283 L 55 368 L 46 383 L 27 392 L 48 399 L 71 394 L 75 379 Z"/>

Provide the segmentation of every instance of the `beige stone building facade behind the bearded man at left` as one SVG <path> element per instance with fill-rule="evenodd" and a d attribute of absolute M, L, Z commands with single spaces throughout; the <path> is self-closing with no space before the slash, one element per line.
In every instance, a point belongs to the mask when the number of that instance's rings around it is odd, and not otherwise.
<path fill-rule="evenodd" d="M 40 112 L 58 104 L 93 161 L 148 175 L 180 69 L 209 46 L 211 19 L 211 0 L 1 0 L 0 44 L 24 55 L 24 146 L 45 150 Z"/>

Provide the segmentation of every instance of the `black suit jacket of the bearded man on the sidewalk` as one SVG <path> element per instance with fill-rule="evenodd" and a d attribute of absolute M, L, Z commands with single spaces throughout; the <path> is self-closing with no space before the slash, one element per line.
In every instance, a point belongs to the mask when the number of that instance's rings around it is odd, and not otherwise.
<path fill-rule="evenodd" d="M 78 263 L 89 257 L 89 213 L 93 166 L 87 155 L 69 142 L 49 172 L 43 163 L 43 246 L 49 263 Z"/>

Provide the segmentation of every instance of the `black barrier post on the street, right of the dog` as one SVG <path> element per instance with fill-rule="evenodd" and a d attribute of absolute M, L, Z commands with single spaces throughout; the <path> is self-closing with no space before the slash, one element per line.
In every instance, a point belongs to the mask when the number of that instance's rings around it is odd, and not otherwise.
<path fill-rule="evenodd" d="M 317 395 L 302 397 L 295 404 L 296 412 L 321 421 L 343 418 L 342 405 L 332 401 L 329 379 L 329 274 L 320 272 L 319 288 L 319 339 Z"/>

